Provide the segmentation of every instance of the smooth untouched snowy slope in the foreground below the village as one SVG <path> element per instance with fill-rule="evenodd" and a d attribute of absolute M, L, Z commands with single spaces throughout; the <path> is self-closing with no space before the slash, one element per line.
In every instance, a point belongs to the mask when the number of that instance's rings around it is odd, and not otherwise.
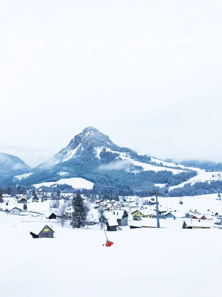
<path fill-rule="evenodd" d="M 73 230 L 49 223 L 53 239 L 0 213 L 0 292 L 12 297 L 220 296 L 222 231 Z"/>

